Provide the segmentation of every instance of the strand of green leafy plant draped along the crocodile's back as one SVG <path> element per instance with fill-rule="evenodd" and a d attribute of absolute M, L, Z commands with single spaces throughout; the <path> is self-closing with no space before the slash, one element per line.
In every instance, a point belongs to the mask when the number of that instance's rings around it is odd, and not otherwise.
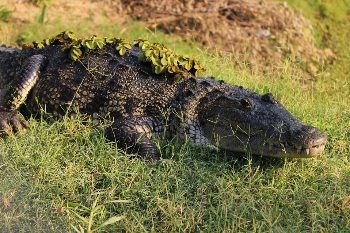
<path fill-rule="evenodd" d="M 74 33 L 66 31 L 57 36 L 45 39 L 41 42 L 33 42 L 34 48 L 63 45 L 68 50 L 69 58 L 78 60 L 84 53 L 103 49 L 105 46 L 113 46 L 120 56 L 124 56 L 133 46 L 142 51 L 139 61 L 150 63 L 155 74 L 171 74 L 175 80 L 188 77 L 192 74 L 200 76 L 204 68 L 201 64 L 188 56 L 178 55 L 171 49 L 159 43 L 151 43 L 147 40 L 135 40 L 129 42 L 122 38 L 107 38 L 92 36 L 87 39 L 78 39 Z"/>

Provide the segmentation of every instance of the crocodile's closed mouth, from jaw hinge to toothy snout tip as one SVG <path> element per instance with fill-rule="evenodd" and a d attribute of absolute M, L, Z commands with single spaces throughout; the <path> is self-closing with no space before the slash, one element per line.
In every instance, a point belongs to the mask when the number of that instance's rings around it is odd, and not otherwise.
<path fill-rule="evenodd" d="M 244 122 L 227 121 L 226 118 L 206 120 L 202 129 L 213 145 L 232 152 L 277 158 L 313 158 L 322 154 L 327 143 L 323 132 L 299 122 L 284 127 L 272 124 L 253 128 Z"/>

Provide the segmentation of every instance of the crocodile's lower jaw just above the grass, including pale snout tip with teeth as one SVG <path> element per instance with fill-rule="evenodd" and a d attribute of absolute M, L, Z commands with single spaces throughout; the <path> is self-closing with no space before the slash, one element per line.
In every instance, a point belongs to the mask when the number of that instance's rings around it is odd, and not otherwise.
<path fill-rule="evenodd" d="M 327 137 L 314 127 L 302 128 L 305 130 L 300 130 L 293 137 L 289 137 L 290 134 L 282 134 L 278 140 L 267 136 L 266 133 L 249 136 L 241 132 L 232 133 L 227 127 L 220 128 L 218 125 L 215 125 L 215 128 L 206 125 L 203 131 L 205 135 L 211 134 L 208 138 L 213 145 L 232 152 L 248 152 L 277 158 L 312 158 L 322 154 Z"/>

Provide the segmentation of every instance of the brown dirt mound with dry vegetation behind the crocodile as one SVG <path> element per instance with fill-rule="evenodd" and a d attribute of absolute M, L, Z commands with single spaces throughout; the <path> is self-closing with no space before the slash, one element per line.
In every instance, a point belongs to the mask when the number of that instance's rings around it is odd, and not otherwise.
<path fill-rule="evenodd" d="M 273 0 L 118 2 L 119 10 L 152 28 L 229 52 L 251 68 L 274 69 L 288 57 L 314 74 L 318 64 L 335 58 L 316 48 L 312 26 L 300 13 Z"/>

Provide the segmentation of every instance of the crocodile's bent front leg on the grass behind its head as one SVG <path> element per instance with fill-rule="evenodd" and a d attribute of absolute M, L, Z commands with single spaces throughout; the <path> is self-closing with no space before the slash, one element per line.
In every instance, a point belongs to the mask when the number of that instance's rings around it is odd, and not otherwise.
<path fill-rule="evenodd" d="M 147 160 L 158 160 L 160 153 L 151 138 L 163 130 L 163 123 L 152 117 L 133 117 L 115 121 L 105 131 L 107 139 L 116 141 L 128 152 L 138 153 Z"/>

